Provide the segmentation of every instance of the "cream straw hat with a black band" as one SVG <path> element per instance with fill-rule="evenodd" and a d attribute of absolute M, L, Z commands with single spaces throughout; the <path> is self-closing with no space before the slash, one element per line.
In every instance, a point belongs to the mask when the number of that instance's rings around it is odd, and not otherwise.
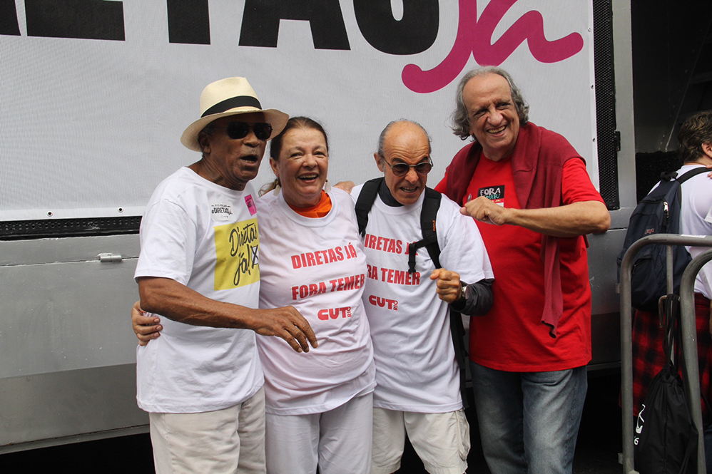
<path fill-rule="evenodd" d="M 257 94 L 245 78 L 227 78 L 210 83 L 200 94 L 200 118 L 188 125 L 180 137 L 180 143 L 190 150 L 202 151 L 198 133 L 205 125 L 220 117 L 255 112 L 265 114 L 265 122 L 272 125 L 270 138 L 280 133 L 289 119 L 289 115 L 280 110 L 263 110 Z"/>

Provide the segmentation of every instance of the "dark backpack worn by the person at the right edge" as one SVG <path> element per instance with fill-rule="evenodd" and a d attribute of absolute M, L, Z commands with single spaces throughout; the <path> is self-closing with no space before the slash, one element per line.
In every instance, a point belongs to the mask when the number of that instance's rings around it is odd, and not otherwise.
<path fill-rule="evenodd" d="M 703 172 L 701 166 L 677 178 L 676 172 L 663 172 L 658 186 L 641 200 L 628 225 L 623 249 L 618 257 L 618 281 L 621 281 L 621 262 L 628 248 L 636 240 L 655 234 L 680 233 L 681 184 Z M 658 299 L 668 294 L 666 246 L 650 244 L 636 255 L 631 267 L 631 302 L 634 308 L 656 313 Z M 680 280 L 685 267 L 691 261 L 690 254 L 682 245 L 673 247 L 673 293 L 679 294 Z"/>

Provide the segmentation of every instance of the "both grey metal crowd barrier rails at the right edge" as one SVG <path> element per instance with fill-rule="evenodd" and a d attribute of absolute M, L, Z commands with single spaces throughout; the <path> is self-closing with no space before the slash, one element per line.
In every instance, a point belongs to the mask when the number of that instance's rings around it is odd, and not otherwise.
<path fill-rule="evenodd" d="M 712 247 L 712 236 L 697 235 L 650 235 L 639 239 L 629 247 L 621 262 L 621 408 L 623 417 L 623 464 L 624 474 L 638 474 L 634 469 L 634 416 L 633 416 L 633 325 L 631 305 L 631 265 L 636 254 L 650 244 L 667 247 L 668 293 L 673 288 L 673 245 L 691 247 Z M 700 378 L 697 362 L 697 330 L 695 324 L 694 285 L 697 273 L 708 261 L 712 260 L 712 249 L 692 259 L 683 273 L 680 284 L 681 331 L 683 357 L 688 373 L 685 381 L 688 388 L 693 421 L 699 433 L 697 445 L 697 472 L 706 473 L 705 451 L 702 428 L 702 406 L 700 397 Z M 661 341 L 662 344 L 662 341 Z"/>

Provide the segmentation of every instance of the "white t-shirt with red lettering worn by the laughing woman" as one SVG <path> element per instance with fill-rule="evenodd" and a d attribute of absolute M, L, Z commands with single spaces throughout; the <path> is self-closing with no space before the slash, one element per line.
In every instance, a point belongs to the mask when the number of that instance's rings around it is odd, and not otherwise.
<path fill-rule="evenodd" d="M 281 192 L 258 201 L 260 307 L 294 306 L 319 343 L 297 354 L 283 339 L 258 336 L 265 409 L 275 415 L 329 411 L 375 386 L 361 302 L 366 257 L 353 203 L 342 190 L 331 190 L 329 196 L 331 211 L 315 219 L 294 212 Z"/>

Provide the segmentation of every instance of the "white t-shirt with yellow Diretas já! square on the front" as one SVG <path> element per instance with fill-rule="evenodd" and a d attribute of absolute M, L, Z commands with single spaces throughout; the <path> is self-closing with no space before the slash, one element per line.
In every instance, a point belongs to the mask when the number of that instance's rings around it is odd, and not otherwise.
<path fill-rule="evenodd" d="M 205 297 L 258 307 L 260 237 L 253 188 L 234 191 L 180 168 L 151 196 L 135 277 L 176 280 Z M 160 316 L 160 315 L 159 315 Z M 138 406 L 199 413 L 242 403 L 263 385 L 254 331 L 161 318 L 136 352 Z"/>

